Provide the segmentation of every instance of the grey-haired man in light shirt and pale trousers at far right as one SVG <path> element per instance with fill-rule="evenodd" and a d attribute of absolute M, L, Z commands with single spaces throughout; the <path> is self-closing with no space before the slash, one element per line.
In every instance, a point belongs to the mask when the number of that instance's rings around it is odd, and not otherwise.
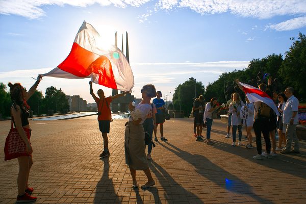
<path fill-rule="evenodd" d="M 283 111 L 283 123 L 287 125 L 286 128 L 286 145 L 285 149 L 280 151 L 282 154 L 299 153 L 298 139 L 296 135 L 296 125 L 298 123 L 298 105 L 299 101 L 293 95 L 293 88 L 288 87 L 285 90 L 285 95 L 288 97 Z M 293 150 L 291 150 L 291 143 Z"/>

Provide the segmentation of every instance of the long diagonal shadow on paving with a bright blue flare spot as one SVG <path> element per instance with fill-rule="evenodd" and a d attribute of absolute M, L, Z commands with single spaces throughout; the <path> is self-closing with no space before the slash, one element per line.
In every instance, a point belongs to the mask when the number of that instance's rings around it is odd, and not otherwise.
<path fill-rule="evenodd" d="M 247 197 L 252 197 L 252 199 L 257 200 L 259 202 L 273 203 L 271 200 L 267 198 L 258 196 L 256 193 L 252 191 L 251 186 L 241 181 L 235 175 L 215 165 L 206 157 L 203 157 L 201 155 L 192 155 L 189 152 L 184 151 L 168 142 L 166 143 L 175 150 L 169 148 L 168 146 L 162 143 L 160 143 L 160 145 L 166 148 L 167 150 L 173 152 L 177 157 L 180 157 L 186 162 L 193 165 L 197 169 L 196 172 L 198 174 L 200 174 L 203 177 L 206 177 L 211 182 L 215 183 L 221 188 L 226 189 L 227 191 L 233 193 L 238 193 Z M 205 164 L 205 165 L 199 166 L 199 164 Z M 209 169 L 206 169 L 207 166 L 209 167 Z"/>

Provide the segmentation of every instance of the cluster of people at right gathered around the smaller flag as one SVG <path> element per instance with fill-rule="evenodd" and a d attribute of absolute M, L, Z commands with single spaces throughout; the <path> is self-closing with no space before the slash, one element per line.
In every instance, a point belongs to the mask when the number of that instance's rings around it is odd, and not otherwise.
<path fill-rule="evenodd" d="M 238 145 L 242 145 L 242 124 L 244 124 L 246 126 L 248 139 L 246 148 L 251 149 L 253 148 L 251 134 L 251 129 L 253 128 L 256 136 L 256 146 L 258 151 L 258 155 L 254 156 L 253 158 L 259 160 L 262 160 L 263 156 L 268 159 L 272 159 L 272 156 L 277 156 L 276 151 L 281 152 L 281 154 L 299 152 L 299 144 L 296 134 L 299 101 L 296 97 L 294 97 L 294 90 L 292 87 L 288 87 L 284 93 L 272 93 L 269 89 L 271 80 L 271 78 L 268 79 L 268 87 L 266 84 L 260 84 L 259 89 L 274 100 L 275 106 L 279 111 L 279 116 L 276 116 L 271 107 L 261 101 L 250 103 L 247 96 L 245 97 L 246 103 L 244 104 L 243 101 L 240 100 L 239 93 L 233 93 L 232 98 L 226 103 L 226 109 L 228 110 L 228 125 L 225 138 L 231 137 L 230 130 L 232 127 L 232 146 L 236 146 L 236 132 L 238 127 Z M 243 90 L 243 87 L 241 84 L 239 84 L 238 79 L 236 80 L 236 83 L 238 87 Z M 242 113 L 246 115 L 241 115 Z M 279 136 L 277 147 L 275 137 L 276 129 L 278 130 L 277 132 Z M 266 152 L 262 151 L 262 135 L 266 143 Z M 292 142 L 294 142 L 293 149 L 291 149 Z M 284 148 L 282 148 L 283 143 L 285 145 Z"/>

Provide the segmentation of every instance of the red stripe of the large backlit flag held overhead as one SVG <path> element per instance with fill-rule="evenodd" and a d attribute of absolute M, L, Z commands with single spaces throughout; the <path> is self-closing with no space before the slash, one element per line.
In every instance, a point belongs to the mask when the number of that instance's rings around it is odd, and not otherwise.
<path fill-rule="evenodd" d="M 84 49 L 78 43 L 73 43 L 68 57 L 58 67 L 77 77 L 88 77 L 96 73 L 100 85 L 117 89 L 110 60 Z"/>

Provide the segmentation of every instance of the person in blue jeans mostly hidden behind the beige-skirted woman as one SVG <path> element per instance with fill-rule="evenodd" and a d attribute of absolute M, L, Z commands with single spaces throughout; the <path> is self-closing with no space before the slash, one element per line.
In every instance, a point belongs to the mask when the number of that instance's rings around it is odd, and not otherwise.
<path fill-rule="evenodd" d="M 156 107 L 152 103 L 150 112 L 149 112 L 147 118 L 145 119 L 145 121 L 142 124 L 144 132 L 149 134 L 149 136 L 151 137 L 151 140 L 153 139 L 153 131 L 156 130 L 156 120 L 155 120 L 155 114 L 156 113 L 157 113 Z M 148 144 L 148 154 L 147 154 L 147 159 L 148 160 L 151 159 L 152 146 L 153 146 L 153 143 Z"/>

